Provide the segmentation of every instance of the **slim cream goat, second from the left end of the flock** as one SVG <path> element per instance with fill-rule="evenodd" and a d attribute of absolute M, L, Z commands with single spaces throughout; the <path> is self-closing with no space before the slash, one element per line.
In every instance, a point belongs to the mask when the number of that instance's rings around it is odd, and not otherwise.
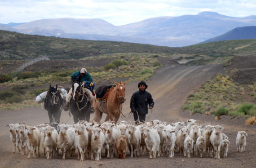
<path fill-rule="evenodd" d="M 17 130 L 19 131 L 19 140 L 21 145 L 21 155 L 26 153 L 26 148 L 28 148 L 28 132 L 25 130 L 25 124 L 19 124 Z"/>

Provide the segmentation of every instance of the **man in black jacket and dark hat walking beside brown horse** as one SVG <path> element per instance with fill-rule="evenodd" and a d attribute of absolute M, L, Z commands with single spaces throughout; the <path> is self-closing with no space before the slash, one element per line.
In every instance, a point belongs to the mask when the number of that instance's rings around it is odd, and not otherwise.
<path fill-rule="evenodd" d="M 155 104 L 151 94 L 145 91 L 148 88 L 148 85 L 144 81 L 141 81 L 138 83 L 138 87 L 139 90 L 134 92 L 133 96 L 131 96 L 130 102 L 131 112 L 133 112 L 136 124 L 139 122 L 145 122 L 148 109 L 152 109 Z"/>

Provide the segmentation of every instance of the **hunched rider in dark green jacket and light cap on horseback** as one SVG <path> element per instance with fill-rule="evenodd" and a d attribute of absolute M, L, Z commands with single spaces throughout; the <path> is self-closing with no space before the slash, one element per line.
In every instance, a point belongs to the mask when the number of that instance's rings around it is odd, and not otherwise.
<path fill-rule="evenodd" d="M 89 89 L 92 94 L 94 94 L 94 82 L 92 81 L 92 77 L 89 72 L 85 68 L 78 70 L 70 76 L 70 80 L 73 83 L 76 80 L 81 81 L 83 83 L 83 87 Z M 72 99 L 72 89 L 69 90 L 67 95 L 67 104 L 65 105 L 64 110 L 68 110 L 70 100 Z M 91 113 L 94 113 L 94 100 L 91 100 Z"/>

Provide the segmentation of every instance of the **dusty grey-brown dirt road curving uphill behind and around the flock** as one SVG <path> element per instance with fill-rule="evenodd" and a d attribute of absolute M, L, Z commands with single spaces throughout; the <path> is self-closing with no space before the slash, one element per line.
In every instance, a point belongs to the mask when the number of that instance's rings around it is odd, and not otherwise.
<path fill-rule="evenodd" d="M 117 158 L 107 159 L 103 156 L 100 162 L 86 160 L 85 162 L 77 161 L 77 158 L 61 160 L 61 156 L 52 160 L 46 160 L 45 156 L 36 159 L 28 159 L 27 156 L 21 156 L 19 153 L 12 153 L 13 145 L 10 142 L 8 123 L 24 122 L 27 125 L 37 125 L 48 122 L 46 111 L 41 107 L 26 108 L 24 110 L 0 111 L 0 167 L 255 167 L 255 127 L 245 127 L 244 118 L 236 117 L 231 120 L 224 117 L 223 120 L 215 123 L 214 117 L 202 116 L 195 114 L 190 116 L 188 112 L 180 112 L 180 107 L 184 104 L 187 96 L 195 91 L 202 83 L 221 72 L 220 65 L 192 66 L 183 67 L 178 65 L 168 65 L 157 70 L 155 75 L 147 82 L 147 91 L 151 92 L 155 100 L 155 108 L 149 120 L 158 119 L 161 121 L 178 121 L 182 118 L 186 121 L 188 118 L 195 118 L 200 123 L 222 124 L 225 128 L 224 133 L 229 137 L 231 142 L 227 158 L 220 160 L 214 158 L 186 158 L 176 154 L 174 158 L 158 157 L 149 160 L 148 156 L 139 158 L 130 158 L 126 160 Z M 128 116 L 130 112 L 129 103 L 131 95 L 138 90 L 138 82 L 128 83 L 126 85 L 126 102 L 123 104 L 123 113 Z M 148 120 L 148 116 L 146 120 Z M 94 117 L 93 115 L 91 117 Z M 104 118 L 105 116 L 103 116 Z M 120 120 L 122 120 L 120 118 Z M 133 117 L 127 118 L 126 121 L 134 121 Z M 73 124 L 73 119 L 68 117 L 67 112 L 62 112 L 61 121 Z M 103 121 L 103 119 L 102 119 Z M 248 130 L 248 140 L 246 152 L 237 153 L 235 147 L 235 138 L 237 131 Z"/>

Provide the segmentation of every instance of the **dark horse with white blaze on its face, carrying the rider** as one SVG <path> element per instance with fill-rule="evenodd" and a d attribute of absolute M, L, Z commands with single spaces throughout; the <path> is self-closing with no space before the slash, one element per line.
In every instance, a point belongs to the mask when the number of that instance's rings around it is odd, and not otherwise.
<path fill-rule="evenodd" d="M 80 120 L 85 120 L 85 118 L 86 121 L 89 122 L 91 114 L 90 99 L 92 99 L 90 96 L 91 91 L 81 86 L 80 81 L 74 81 L 72 84 L 72 92 L 73 97 L 70 101 L 69 110 L 73 115 L 74 123 L 77 123 Z"/>

